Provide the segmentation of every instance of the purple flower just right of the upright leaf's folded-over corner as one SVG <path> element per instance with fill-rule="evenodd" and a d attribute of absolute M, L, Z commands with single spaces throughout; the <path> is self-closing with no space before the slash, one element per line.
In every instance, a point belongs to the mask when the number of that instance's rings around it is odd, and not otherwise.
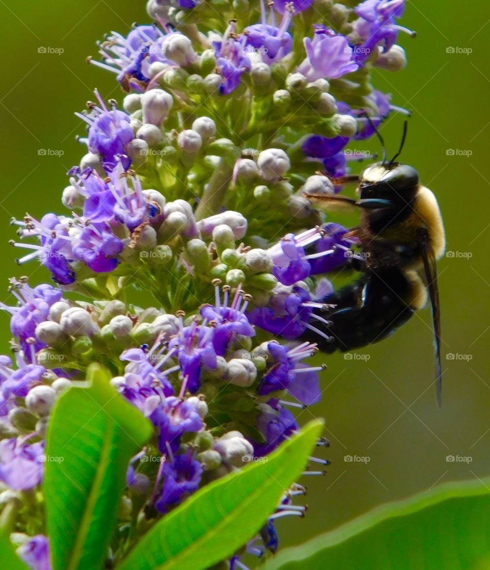
<path fill-rule="evenodd" d="M 158 446 L 162 453 L 168 453 L 169 449 L 175 453 L 186 431 L 197 432 L 203 426 L 195 405 L 175 396 L 165 398 L 150 420 L 160 428 Z"/>

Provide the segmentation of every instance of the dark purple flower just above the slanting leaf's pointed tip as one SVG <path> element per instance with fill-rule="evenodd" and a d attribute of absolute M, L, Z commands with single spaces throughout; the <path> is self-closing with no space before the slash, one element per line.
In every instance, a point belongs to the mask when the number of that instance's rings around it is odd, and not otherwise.
<path fill-rule="evenodd" d="M 259 457 L 271 453 L 280 443 L 299 429 L 291 412 L 274 401 L 270 403 L 273 406 L 267 406 L 268 410 L 257 418 L 257 427 L 266 438 L 266 443 L 254 442 L 254 453 Z"/>

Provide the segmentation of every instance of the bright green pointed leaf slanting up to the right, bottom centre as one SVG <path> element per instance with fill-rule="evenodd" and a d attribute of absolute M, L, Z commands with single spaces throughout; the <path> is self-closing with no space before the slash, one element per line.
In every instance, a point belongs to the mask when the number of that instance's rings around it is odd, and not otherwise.
<path fill-rule="evenodd" d="M 311 422 L 268 461 L 206 485 L 149 530 L 118 570 L 200 570 L 232 556 L 299 477 L 321 428 Z"/>

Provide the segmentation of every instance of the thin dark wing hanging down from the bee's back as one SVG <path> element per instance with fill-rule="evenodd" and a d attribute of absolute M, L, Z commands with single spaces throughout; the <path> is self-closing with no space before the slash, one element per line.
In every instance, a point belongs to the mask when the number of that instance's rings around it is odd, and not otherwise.
<path fill-rule="evenodd" d="M 430 246 L 427 231 L 424 230 L 419 241 L 420 254 L 422 255 L 424 274 L 432 306 L 432 323 L 434 324 L 435 344 L 435 389 L 437 404 L 440 408 L 442 401 L 442 366 L 440 363 L 440 306 L 439 288 L 437 284 L 437 267 L 434 251 Z"/>

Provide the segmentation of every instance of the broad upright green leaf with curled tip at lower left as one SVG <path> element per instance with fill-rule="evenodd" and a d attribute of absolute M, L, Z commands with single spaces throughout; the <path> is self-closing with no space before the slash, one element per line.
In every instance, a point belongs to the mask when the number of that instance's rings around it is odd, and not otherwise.
<path fill-rule="evenodd" d="M 104 566 L 129 459 L 152 433 L 109 379 L 91 364 L 91 385 L 62 394 L 50 418 L 44 496 L 53 570 Z"/>

